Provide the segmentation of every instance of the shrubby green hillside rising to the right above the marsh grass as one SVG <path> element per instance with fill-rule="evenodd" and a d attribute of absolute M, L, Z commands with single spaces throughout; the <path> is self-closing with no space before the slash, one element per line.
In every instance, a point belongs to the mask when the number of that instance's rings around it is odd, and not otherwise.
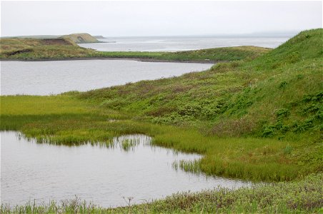
<path fill-rule="evenodd" d="M 156 123 L 209 121 L 229 128 L 229 123 L 250 122 L 250 133 L 257 133 L 259 121 L 272 123 L 275 112 L 283 111 L 279 109 L 286 111 L 280 113 L 283 121 L 303 121 L 304 115 L 297 114 L 299 105 L 316 106 L 322 101 L 322 38 L 322 29 L 304 31 L 254 60 L 219 63 L 209 71 L 102 88 L 79 96 L 97 99 L 106 108 L 136 111 Z M 319 112 L 314 109 L 305 115 Z M 214 131 L 220 134 L 217 128 Z"/>

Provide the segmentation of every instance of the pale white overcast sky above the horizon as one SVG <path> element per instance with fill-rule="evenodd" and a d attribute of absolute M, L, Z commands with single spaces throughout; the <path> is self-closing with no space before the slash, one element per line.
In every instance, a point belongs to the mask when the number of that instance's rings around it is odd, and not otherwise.
<path fill-rule="evenodd" d="M 189 36 L 322 28 L 322 1 L 1 1 L 1 36 Z"/>

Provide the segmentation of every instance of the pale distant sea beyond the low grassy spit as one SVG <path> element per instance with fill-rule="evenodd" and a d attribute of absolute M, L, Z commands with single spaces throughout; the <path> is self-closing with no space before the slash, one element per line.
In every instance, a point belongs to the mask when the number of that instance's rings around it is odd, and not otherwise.
<path fill-rule="evenodd" d="M 188 51 L 230 46 L 277 48 L 294 35 L 279 36 L 169 36 L 109 37 L 105 43 L 79 44 L 98 51 Z"/>

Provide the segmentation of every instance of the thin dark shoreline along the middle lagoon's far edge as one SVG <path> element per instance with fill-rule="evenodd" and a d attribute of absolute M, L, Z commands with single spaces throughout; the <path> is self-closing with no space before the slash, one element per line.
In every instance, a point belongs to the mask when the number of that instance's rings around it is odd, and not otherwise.
<path fill-rule="evenodd" d="M 24 58 L 0 58 L 1 61 L 76 61 L 76 60 L 131 60 L 142 62 L 169 62 L 169 63 L 207 63 L 214 64 L 227 61 L 198 61 L 198 60 L 166 60 L 156 58 L 131 58 L 131 57 L 78 57 L 78 58 L 36 58 L 36 59 L 24 59 Z"/>

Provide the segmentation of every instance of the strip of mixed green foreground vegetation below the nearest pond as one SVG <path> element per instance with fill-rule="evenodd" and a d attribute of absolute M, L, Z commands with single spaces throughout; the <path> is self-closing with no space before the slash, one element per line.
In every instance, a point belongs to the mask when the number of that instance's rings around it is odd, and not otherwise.
<path fill-rule="evenodd" d="M 1 213 L 321 213 L 322 181 L 319 173 L 288 183 L 177 193 L 124 208 L 101 208 L 75 198 L 45 205 L 31 202 L 14 208 L 1 205 L 0 210 Z"/>

